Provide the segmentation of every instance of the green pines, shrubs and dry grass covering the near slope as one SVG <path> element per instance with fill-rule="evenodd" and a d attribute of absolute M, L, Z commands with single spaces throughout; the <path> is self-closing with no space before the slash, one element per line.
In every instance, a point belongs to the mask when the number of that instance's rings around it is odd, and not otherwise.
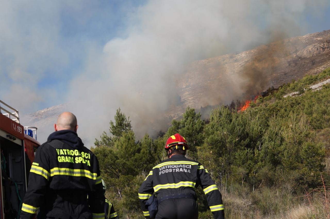
<path fill-rule="evenodd" d="M 190 146 L 187 157 L 209 170 L 223 195 L 226 218 L 330 218 L 330 68 L 285 84 L 243 112 L 213 109 L 207 121 L 187 108 L 156 139 L 136 141 L 129 117 L 117 110 L 92 151 L 107 182 L 106 197 L 121 218 L 144 218 L 138 189 L 149 170 L 166 158 L 175 133 Z M 283 98 L 292 91 L 301 96 Z M 199 218 L 213 218 L 198 188 Z"/>

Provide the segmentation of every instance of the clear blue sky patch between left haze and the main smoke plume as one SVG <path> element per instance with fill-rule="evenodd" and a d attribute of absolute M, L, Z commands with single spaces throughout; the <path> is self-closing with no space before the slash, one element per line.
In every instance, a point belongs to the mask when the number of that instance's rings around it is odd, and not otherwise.
<path fill-rule="evenodd" d="M 69 54 L 70 64 L 63 66 L 61 71 L 66 72 L 66 80 L 54 74 L 53 69 L 49 69 L 38 82 L 38 87 L 50 87 L 58 90 L 57 87 L 64 88 L 62 95 L 66 92 L 69 82 L 73 80 L 84 68 L 85 43 L 92 43 L 94 49 L 101 50 L 112 38 L 124 37 L 127 23 L 127 16 L 145 3 L 145 1 L 91 1 L 92 5 L 83 10 L 88 10 L 85 16 L 83 11 L 62 10 L 60 13 L 61 45 L 66 47 Z M 61 92 L 61 90 L 58 90 Z M 40 108 L 53 106 L 62 103 L 41 103 Z"/>

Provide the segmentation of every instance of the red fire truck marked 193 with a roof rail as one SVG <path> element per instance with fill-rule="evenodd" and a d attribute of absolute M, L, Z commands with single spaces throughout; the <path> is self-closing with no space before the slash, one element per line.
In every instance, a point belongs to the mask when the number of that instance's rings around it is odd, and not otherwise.
<path fill-rule="evenodd" d="M 35 151 L 40 146 L 36 127 L 23 127 L 18 110 L 0 100 L 0 216 L 20 213 Z"/>

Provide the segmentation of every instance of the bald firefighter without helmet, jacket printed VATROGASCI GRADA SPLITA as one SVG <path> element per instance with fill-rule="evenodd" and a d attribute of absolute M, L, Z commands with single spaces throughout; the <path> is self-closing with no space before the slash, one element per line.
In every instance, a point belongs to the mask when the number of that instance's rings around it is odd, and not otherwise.
<path fill-rule="evenodd" d="M 38 212 L 40 219 L 103 219 L 98 160 L 78 137 L 76 116 L 61 113 L 54 129 L 32 163 L 20 218 L 34 218 Z"/>

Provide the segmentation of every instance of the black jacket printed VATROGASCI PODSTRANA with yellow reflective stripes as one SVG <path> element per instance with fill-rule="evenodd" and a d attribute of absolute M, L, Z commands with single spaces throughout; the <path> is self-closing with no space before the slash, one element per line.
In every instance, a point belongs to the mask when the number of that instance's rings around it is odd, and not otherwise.
<path fill-rule="evenodd" d="M 173 155 L 152 168 L 139 189 L 139 199 L 143 214 L 149 217 L 145 203 L 155 193 L 157 199 L 170 194 L 192 193 L 200 185 L 206 194 L 207 202 L 215 219 L 224 218 L 221 193 L 211 179 L 208 171 L 199 162 Z M 169 209 L 171 210 L 171 209 Z M 182 211 L 188 209 L 182 209 Z"/>

